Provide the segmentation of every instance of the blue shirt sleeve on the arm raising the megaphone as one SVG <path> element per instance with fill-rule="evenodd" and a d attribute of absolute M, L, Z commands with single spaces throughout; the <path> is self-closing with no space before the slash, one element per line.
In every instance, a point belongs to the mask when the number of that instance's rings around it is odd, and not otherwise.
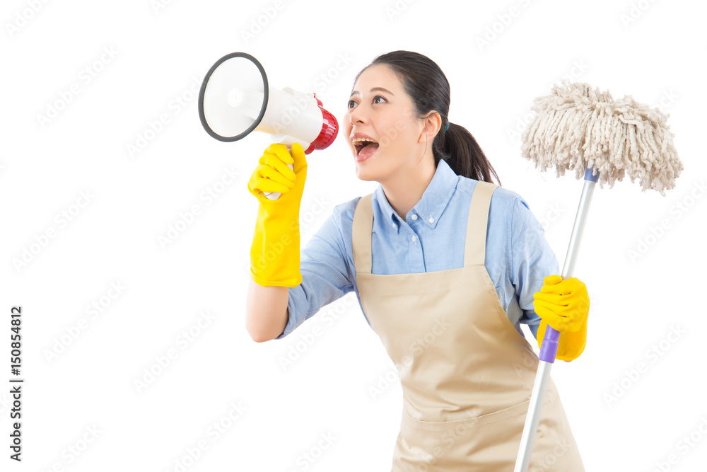
<path fill-rule="evenodd" d="M 287 326 L 275 339 L 292 333 L 322 307 L 354 289 L 353 275 L 346 263 L 344 238 L 341 234 L 340 207 L 334 207 L 332 214 L 301 252 L 302 282 L 297 287 L 290 287 Z"/>

